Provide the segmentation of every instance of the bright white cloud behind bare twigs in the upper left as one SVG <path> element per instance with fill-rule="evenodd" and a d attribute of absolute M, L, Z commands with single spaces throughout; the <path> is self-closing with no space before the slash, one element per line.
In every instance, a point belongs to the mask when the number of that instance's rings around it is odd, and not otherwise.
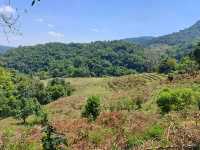
<path fill-rule="evenodd" d="M 8 6 L 8 5 L 0 6 L 0 15 L 4 17 L 10 18 L 13 15 L 15 15 L 15 13 L 16 13 L 16 10 L 11 6 Z"/>

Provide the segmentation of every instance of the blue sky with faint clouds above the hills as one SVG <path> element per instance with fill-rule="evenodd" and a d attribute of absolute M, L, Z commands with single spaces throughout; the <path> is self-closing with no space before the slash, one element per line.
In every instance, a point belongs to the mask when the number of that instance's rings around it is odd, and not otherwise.
<path fill-rule="evenodd" d="M 0 0 L 0 13 L 7 2 Z M 34 7 L 30 4 L 31 0 L 11 0 L 20 14 L 21 34 L 7 39 L 0 32 L 0 45 L 160 36 L 200 20 L 200 0 L 41 0 Z"/>

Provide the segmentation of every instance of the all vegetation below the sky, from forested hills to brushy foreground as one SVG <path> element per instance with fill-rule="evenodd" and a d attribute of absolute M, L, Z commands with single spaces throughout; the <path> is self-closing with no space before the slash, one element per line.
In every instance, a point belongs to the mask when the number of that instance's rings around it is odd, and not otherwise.
<path fill-rule="evenodd" d="M 168 51 L 124 41 L 9 50 L 0 61 L 0 149 L 199 149 L 200 46 L 183 38 L 198 25 L 134 39 Z"/>

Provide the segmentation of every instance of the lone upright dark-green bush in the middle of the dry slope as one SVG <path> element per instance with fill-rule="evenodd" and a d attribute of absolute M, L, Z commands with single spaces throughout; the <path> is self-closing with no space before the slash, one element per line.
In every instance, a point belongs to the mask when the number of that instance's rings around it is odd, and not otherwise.
<path fill-rule="evenodd" d="M 91 96 L 87 100 L 87 104 L 82 112 L 82 116 L 91 120 L 96 120 L 100 114 L 100 98 L 98 96 Z"/>

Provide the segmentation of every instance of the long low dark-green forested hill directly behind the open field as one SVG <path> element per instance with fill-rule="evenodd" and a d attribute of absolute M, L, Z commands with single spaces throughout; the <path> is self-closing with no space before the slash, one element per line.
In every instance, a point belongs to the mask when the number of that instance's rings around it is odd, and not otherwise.
<path fill-rule="evenodd" d="M 152 70 L 144 49 L 124 41 L 19 47 L 2 60 L 5 67 L 43 78 L 120 76 Z"/>

